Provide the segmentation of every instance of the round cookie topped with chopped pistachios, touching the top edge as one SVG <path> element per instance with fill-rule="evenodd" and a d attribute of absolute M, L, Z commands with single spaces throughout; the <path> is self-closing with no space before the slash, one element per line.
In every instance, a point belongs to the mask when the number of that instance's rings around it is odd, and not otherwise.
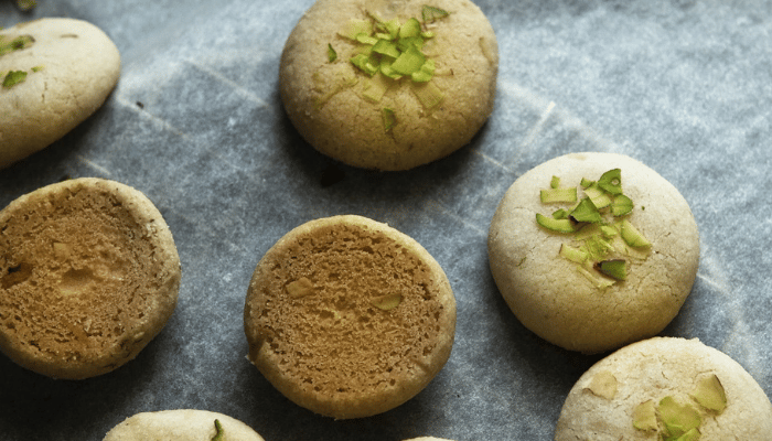
<path fill-rule="evenodd" d="M 425 20 L 426 4 L 433 9 Z M 390 42 L 377 23 L 394 19 L 403 25 L 416 19 L 433 33 L 421 47 L 435 63 L 428 82 L 395 80 L 383 69 L 371 75 L 352 63 L 375 47 L 357 33 Z M 383 52 L 369 66 L 395 60 Z M 497 71 L 493 28 L 469 0 L 318 0 L 287 40 L 279 74 L 285 109 L 311 146 L 350 165 L 395 171 L 469 143 L 493 110 Z"/>

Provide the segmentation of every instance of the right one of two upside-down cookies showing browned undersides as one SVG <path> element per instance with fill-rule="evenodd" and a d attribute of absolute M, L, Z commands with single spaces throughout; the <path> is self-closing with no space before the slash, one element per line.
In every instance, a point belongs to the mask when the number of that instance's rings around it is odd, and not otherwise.
<path fill-rule="evenodd" d="M 417 241 L 361 216 L 305 223 L 260 259 L 249 361 L 286 397 L 336 419 L 385 412 L 440 372 L 455 332 L 448 278 Z"/>

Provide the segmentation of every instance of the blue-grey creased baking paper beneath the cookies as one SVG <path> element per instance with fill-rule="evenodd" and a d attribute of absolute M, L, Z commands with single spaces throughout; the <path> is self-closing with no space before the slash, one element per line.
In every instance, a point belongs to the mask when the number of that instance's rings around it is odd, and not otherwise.
<path fill-rule="evenodd" d="M 159 207 L 183 265 L 180 301 L 132 362 L 66 381 L 0 356 L 0 435 L 100 440 L 140 411 L 227 413 L 271 440 L 550 440 L 600 356 L 523 327 L 491 277 L 486 235 L 506 189 L 557 155 L 610 151 L 672 182 L 700 230 L 694 290 L 663 335 L 698 337 L 772 396 L 772 2 L 476 0 L 498 39 L 496 105 L 470 146 L 408 172 L 336 163 L 278 96 L 285 40 L 311 0 L 0 1 L 0 25 L 87 20 L 122 56 L 106 105 L 0 171 L 0 206 L 65 178 L 131 185 Z M 2 118 L 2 116 L 0 116 Z M 386 413 L 334 421 L 277 392 L 245 358 L 246 288 L 303 222 L 360 214 L 423 245 L 458 302 L 444 369 Z"/>

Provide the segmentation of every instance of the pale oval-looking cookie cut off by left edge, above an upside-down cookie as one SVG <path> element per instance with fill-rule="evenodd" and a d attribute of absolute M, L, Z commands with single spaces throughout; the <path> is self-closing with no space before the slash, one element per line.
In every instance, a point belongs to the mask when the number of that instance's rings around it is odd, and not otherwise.
<path fill-rule="evenodd" d="M 9 73 L 25 77 L 9 86 Z M 0 169 L 83 122 L 119 75 L 118 49 L 88 22 L 52 18 L 0 30 Z"/>

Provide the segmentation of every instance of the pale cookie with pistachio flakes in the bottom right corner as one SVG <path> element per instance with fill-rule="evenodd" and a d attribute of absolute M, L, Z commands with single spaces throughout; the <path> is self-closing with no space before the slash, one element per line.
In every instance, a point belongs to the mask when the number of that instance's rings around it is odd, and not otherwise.
<path fill-rule="evenodd" d="M 697 338 L 654 337 L 616 351 L 579 378 L 555 440 L 693 440 L 694 431 L 701 441 L 772 440 L 772 404 L 720 351 Z"/>

